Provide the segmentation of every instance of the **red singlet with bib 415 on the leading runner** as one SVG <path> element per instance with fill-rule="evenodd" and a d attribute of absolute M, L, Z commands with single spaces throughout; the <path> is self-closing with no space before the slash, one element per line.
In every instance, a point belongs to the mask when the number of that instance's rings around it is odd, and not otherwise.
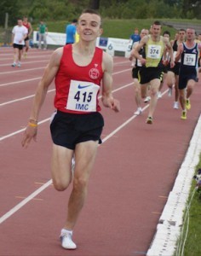
<path fill-rule="evenodd" d="M 98 94 L 103 78 L 102 55 L 95 55 L 88 66 L 78 66 L 72 58 L 72 44 L 63 48 L 60 67 L 55 76 L 55 108 L 66 113 L 91 113 L 100 111 Z"/>

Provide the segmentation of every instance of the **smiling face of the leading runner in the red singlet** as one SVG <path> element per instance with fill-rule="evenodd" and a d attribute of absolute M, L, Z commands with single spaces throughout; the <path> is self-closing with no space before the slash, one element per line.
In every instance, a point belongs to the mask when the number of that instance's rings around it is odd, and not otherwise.
<path fill-rule="evenodd" d="M 83 41 L 94 41 L 102 33 L 99 15 L 83 14 L 78 20 L 77 31 Z"/>

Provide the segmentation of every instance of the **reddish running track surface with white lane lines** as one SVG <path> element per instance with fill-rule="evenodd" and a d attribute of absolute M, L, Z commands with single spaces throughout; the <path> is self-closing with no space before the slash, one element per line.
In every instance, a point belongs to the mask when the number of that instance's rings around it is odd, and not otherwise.
<path fill-rule="evenodd" d="M 50 55 L 50 50 L 30 49 L 18 68 L 11 67 L 12 49 L 0 49 L 0 255 L 145 255 L 199 118 L 201 84 L 196 84 L 187 120 L 180 119 L 181 110 L 172 108 L 174 99 L 164 87 L 154 123 L 146 125 L 146 104 L 141 116 L 133 115 L 130 62 L 114 58 L 113 94 L 121 102 L 121 112 L 102 108 L 103 144 L 74 230 L 78 249 L 66 252 L 59 235 L 71 189 L 55 191 L 49 172 L 54 84 L 40 114 L 37 143 L 27 149 L 20 145 Z"/>

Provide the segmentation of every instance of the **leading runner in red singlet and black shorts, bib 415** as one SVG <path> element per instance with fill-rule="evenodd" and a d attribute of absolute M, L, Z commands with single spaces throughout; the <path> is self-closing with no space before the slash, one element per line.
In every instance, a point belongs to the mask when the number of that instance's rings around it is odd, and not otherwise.
<path fill-rule="evenodd" d="M 112 57 L 95 47 L 101 32 L 100 15 L 95 10 L 83 11 L 78 20 L 79 42 L 56 49 L 45 68 L 22 139 L 23 147 L 36 139 L 37 119 L 49 85 L 55 80 L 56 112 L 50 125 L 52 178 L 58 191 L 64 191 L 72 183 L 66 221 L 60 232 L 61 246 L 65 249 L 77 248 L 72 241 L 72 230 L 87 197 L 89 176 L 104 125 L 99 92 L 104 107 L 119 111 L 119 102 L 112 96 Z"/>

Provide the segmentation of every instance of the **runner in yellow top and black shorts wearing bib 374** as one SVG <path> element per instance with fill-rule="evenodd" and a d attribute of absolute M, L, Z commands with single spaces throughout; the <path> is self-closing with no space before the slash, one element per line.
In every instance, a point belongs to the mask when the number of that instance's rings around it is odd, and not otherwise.
<path fill-rule="evenodd" d="M 163 79 L 162 56 L 165 46 L 169 50 L 170 59 L 173 60 L 173 49 L 169 40 L 160 36 L 161 24 L 157 20 L 151 26 L 151 35 L 141 39 L 133 52 L 135 58 L 141 61 L 141 84 L 150 84 L 151 101 L 149 105 L 148 118 L 146 124 L 152 124 L 152 115 L 157 105 L 157 94 L 161 79 Z M 139 51 L 142 47 L 146 48 L 146 58 L 143 58 Z M 174 61 L 171 61 L 170 66 L 174 67 Z"/>

